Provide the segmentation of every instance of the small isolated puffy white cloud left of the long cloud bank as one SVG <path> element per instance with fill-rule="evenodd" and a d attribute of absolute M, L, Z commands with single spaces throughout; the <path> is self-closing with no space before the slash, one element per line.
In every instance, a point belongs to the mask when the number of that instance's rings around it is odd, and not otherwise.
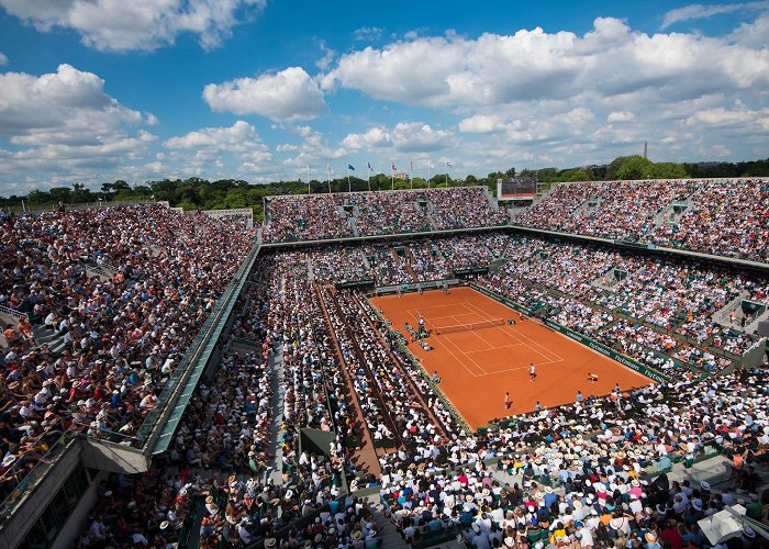
<path fill-rule="evenodd" d="M 214 111 L 260 114 L 272 120 L 312 119 L 325 109 L 323 92 L 300 67 L 209 83 L 203 89 L 203 99 Z"/>

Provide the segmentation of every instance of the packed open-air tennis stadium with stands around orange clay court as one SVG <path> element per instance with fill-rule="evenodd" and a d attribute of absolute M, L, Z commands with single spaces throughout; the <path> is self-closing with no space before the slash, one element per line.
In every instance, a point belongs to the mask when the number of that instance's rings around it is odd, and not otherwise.
<path fill-rule="evenodd" d="M 497 197 L 2 213 L 2 546 L 759 547 L 769 181 Z"/>

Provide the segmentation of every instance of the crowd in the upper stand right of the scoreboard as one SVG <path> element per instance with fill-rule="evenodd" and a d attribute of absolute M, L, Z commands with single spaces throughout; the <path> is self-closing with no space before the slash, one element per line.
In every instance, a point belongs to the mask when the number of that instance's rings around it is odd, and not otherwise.
<path fill-rule="evenodd" d="M 515 223 L 767 262 L 767 204 L 762 179 L 583 182 L 558 186 Z"/>

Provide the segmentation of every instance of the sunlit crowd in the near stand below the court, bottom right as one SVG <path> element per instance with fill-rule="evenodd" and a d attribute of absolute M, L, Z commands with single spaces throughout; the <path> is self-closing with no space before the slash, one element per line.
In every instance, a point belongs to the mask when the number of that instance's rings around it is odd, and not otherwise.
<path fill-rule="evenodd" d="M 703 547 L 701 518 L 738 501 L 754 518 L 766 514 L 755 493 L 760 477 L 743 466 L 716 492 L 704 481 L 670 482 L 664 471 L 705 450 L 727 451 L 735 463 L 766 459 L 767 399 L 759 372 L 617 388 L 501 421 L 495 435 L 394 458 L 381 500 L 405 541 L 455 531 L 477 548 Z M 484 463 L 490 458 L 497 466 Z M 742 534 L 739 547 L 751 547 L 756 533 Z"/>

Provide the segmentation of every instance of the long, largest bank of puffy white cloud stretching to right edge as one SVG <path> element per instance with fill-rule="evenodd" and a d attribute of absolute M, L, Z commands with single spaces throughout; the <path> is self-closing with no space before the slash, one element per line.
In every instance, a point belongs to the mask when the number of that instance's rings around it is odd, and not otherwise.
<path fill-rule="evenodd" d="M 537 27 L 512 35 L 395 42 L 343 55 L 321 78 L 375 99 L 478 107 L 654 89 L 668 99 L 769 86 L 769 49 L 694 34 L 648 35 L 599 18 L 583 35 Z"/>

